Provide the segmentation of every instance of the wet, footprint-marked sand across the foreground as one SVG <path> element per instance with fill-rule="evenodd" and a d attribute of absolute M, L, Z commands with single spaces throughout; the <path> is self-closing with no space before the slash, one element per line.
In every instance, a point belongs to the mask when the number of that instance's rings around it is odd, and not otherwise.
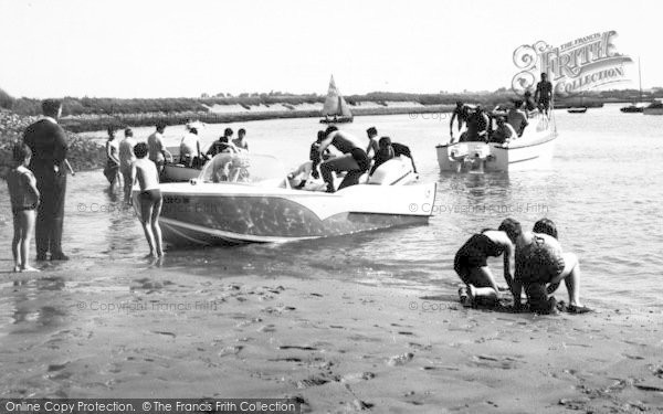
<path fill-rule="evenodd" d="M 306 412 L 663 411 L 660 314 L 140 264 L 0 274 L 3 397 L 297 397 Z"/>

